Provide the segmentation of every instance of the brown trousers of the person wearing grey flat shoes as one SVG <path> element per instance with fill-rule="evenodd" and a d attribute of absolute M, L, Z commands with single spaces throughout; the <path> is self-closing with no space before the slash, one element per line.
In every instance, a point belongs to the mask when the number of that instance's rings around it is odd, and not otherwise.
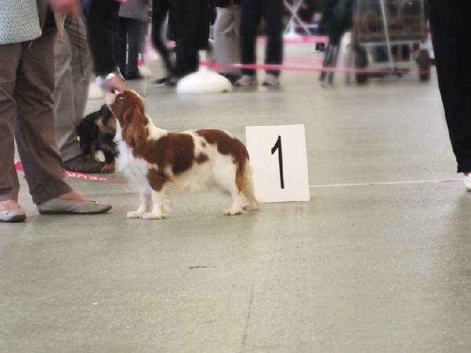
<path fill-rule="evenodd" d="M 41 24 L 46 13 L 39 0 Z M 71 191 L 56 146 L 52 94 L 57 30 L 33 41 L 0 45 L 0 201 L 18 200 L 15 136 L 34 203 Z"/>

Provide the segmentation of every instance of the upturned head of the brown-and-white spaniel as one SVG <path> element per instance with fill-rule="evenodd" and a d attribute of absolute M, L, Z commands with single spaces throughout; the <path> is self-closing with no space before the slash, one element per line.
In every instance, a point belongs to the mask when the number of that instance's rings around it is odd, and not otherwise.
<path fill-rule="evenodd" d="M 122 140 L 129 147 L 145 143 L 148 137 L 144 101 L 135 91 L 112 91 L 105 96 L 106 104 L 120 124 Z"/>

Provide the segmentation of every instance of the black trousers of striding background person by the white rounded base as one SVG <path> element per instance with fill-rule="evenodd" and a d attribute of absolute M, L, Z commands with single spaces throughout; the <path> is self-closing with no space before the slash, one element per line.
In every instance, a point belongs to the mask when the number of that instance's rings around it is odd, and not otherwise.
<path fill-rule="evenodd" d="M 198 51 L 209 39 L 209 7 L 207 0 L 153 1 L 153 43 L 160 52 L 160 30 L 167 11 L 172 13 L 176 35 L 176 76 L 183 77 L 199 67 Z M 167 58 L 164 57 L 166 66 Z"/>

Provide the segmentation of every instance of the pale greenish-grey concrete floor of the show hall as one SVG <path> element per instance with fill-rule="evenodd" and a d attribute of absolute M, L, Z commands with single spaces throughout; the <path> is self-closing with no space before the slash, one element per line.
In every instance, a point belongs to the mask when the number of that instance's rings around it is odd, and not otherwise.
<path fill-rule="evenodd" d="M 146 105 L 243 140 L 305 124 L 311 202 L 224 217 L 228 195 L 185 194 L 146 222 L 127 185 L 68 179 L 110 214 L 39 216 L 22 181 L 27 222 L 0 224 L 0 352 L 471 351 L 471 195 L 437 182 L 460 176 L 435 75 L 323 89 L 285 72 L 278 90 L 150 87 Z"/>

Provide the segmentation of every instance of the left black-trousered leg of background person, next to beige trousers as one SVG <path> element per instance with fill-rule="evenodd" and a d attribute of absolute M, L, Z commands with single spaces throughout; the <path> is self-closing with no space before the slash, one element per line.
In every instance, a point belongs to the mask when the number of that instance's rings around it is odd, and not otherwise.
<path fill-rule="evenodd" d="M 257 63 L 256 38 L 261 18 L 262 0 L 242 0 L 240 8 L 240 60 L 243 64 Z M 244 76 L 254 77 L 255 72 L 254 69 L 242 69 Z"/>

